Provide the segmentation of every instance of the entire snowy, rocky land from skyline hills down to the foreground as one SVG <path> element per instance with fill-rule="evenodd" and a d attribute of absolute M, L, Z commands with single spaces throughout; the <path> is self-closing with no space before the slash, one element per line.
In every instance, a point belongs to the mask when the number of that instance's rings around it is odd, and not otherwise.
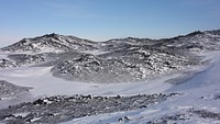
<path fill-rule="evenodd" d="M 220 123 L 220 31 L 0 49 L 0 123 Z"/>

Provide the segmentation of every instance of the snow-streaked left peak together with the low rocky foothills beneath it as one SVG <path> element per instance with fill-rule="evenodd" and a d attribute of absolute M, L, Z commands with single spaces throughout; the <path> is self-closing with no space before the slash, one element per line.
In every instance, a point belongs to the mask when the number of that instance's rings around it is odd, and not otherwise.
<path fill-rule="evenodd" d="M 2 55 L 8 56 L 1 59 L 0 67 L 21 67 L 38 64 L 52 60 L 53 58 L 50 58 L 50 56 L 54 54 L 97 49 L 97 44 L 88 40 L 58 34 L 23 38 L 15 44 L 0 49 Z"/>

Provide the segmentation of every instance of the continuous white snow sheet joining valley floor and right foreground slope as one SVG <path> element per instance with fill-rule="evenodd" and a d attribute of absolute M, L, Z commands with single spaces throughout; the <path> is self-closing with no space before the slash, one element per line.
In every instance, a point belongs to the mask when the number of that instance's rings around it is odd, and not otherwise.
<path fill-rule="evenodd" d="M 66 122 L 65 124 L 117 124 L 120 117 L 128 116 L 131 121 L 130 124 L 141 124 L 155 117 L 174 114 L 187 113 L 189 109 L 208 110 L 210 112 L 220 113 L 220 102 L 215 100 L 216 94 L 220 94 L 220 52 L 206 54 L 205 60 L 210 60 L 210 64 L 204 67 L 195 67 L 187 72 L 191 77 L 183 79 L 183 71 L 163 76 L 157 79 L 147 80 L 135 83 L 86 83 L 74 82 L 58 78 L 54 78 L 51 74 L 52 67 L 22 67 L 15 69 L 0 70 L 0 79 L 8 80 L 18 86 L 33 87 L 31 93 L 34 97 L 42 95 L 73 95 L 73 94 L 94 94 L 94 95 L 132 95 L 143 93 L 169 93 L 179 92 L 180 95 L 169 98 L 163 103 L 156 105 L 128 111 L 99 114 L 75 119 Z M 186 71 L 184 76 L 186 75 Z M 186 75 L 188 76 L 188 75 Z M 180 80 L 178 80 L 180 77 Z M 168 82 L 170 79 L 184 81 L 178 86 Z M 190 117 L 184 123 L 201 124 L 201 123 L 220 123 L 218 120 Z M 182 122 L 179 122 L 182 123 Z"/>

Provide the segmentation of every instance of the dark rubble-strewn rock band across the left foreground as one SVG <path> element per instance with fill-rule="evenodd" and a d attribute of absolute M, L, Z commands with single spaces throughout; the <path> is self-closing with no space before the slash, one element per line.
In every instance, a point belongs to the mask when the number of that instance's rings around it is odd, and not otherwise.
<path fill-rule="evenodd" d="M 59 123 L 102 113 L 136 110 L 163 102 L 170 94 L 139 94 L 131 97 L 44 97 L 34 102 L 21 103 L 0 110 L 0 121 L 7 123 Z M 16 115 L 15 113 L 28 113 Z M 120 120 L 119 120 L 120 121 Z M 124 116 L 123 122 L 131 121 Z"/>

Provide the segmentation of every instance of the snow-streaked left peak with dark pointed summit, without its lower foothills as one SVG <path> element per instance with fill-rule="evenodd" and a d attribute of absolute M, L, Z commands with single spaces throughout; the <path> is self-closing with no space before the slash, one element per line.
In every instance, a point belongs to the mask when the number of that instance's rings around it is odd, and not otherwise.
<path fill-rule="evenodd" d="M 34 38 L 23 38 L 22 41 L 1 48 L 3 52 L 13 53 L 62 53 L 69 50 L 96 49 L 95 42 L 81 40 L 75 36 L 64 36 L 58 34 L 46 34 Z"/>

